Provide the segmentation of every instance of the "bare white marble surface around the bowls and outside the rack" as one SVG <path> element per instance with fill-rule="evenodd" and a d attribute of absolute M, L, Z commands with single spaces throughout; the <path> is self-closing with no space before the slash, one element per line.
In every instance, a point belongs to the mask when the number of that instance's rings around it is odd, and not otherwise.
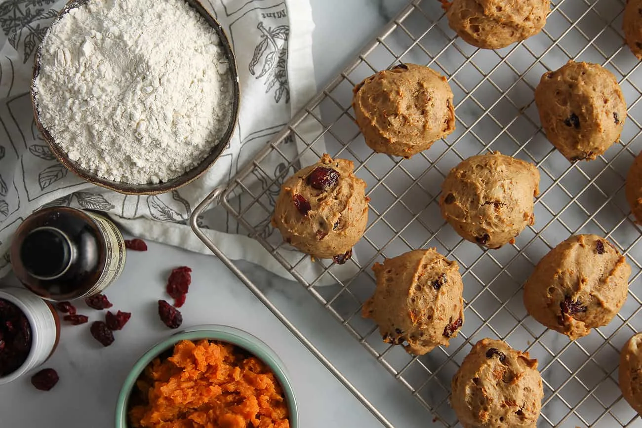
<path fill-rule="evenodd" d="M 314 58 L 319 85 L 370 39 L 403 0 L 311 0 L 317 23 Z M 377 427 L 379 422 L 325 370 L 322 364 L 214 257 L 149 244 L 147 253 L 130 253 L 122 277 L 107 291 L 114 309 L 132 312 L 132 320 L 102 348 L 89 327 L 65 326 L 60 346 L 46 366 L 60 373 L 48 393 L 28 378 L 0 388 L 1 427 L 113 426 L 117 394 L 128 370 L 143 352 L 171 334 L 156 313 L 164 283 L 174 266 L 193 268 L 193 285 L 184 306 L 184 326 L 221 323 L 247 330 L 279 354 L 290 372 L 299 402 L 300 426 Z M 271 300 L 308 336 L 397 427 L 431 426 L 431 415 L 408 390 L 349 336 L 299 284 L 240 263 Z M 11 280 L 1 284 L 8 285 Z M 103 316 L 80 305 L 90 321 Z"/>

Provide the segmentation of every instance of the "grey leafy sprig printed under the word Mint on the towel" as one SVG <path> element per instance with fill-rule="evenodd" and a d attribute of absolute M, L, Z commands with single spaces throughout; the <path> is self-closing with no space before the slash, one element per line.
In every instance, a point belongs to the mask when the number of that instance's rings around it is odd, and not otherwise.
<path fill-rule="evenodd" d="M 265 28 L 259 22 L 256 28 L 261 31 L 261 41 L 254 49 L 254 55 L 248 69 L 257 79 L 267 76 L 265 80 L 265 93 L 275 86 L 274 101 L 279 102 L 285 96 L 285 103 L 290 103 L 290 87 L 288 86 L 288 37 L 290 27 L 279 25 L 274 28 Z M 257 74 L 257 65 L 263 63 L 261 71 Z"/>

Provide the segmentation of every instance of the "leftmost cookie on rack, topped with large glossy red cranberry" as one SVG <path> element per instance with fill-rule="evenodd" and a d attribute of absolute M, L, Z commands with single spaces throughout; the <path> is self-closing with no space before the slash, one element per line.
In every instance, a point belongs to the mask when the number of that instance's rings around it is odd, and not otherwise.
<path fill-rule="evenodd" d="M 342 264 L 352 255 L 368 223 L 365 181 L 351 160 L 325 154 L 290 176 L 281 186 L 272 217 L 283 239 L 320 259 Z"/>

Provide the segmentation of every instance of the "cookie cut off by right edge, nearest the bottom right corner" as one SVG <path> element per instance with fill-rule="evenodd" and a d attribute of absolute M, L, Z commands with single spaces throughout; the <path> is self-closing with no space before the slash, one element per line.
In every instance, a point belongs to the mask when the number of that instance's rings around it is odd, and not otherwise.
<path fill-rule="evenodd" d="M 642 415 L 642 333 L 632 336 L 620 352 L 618 382 L 624 399 Z"/>

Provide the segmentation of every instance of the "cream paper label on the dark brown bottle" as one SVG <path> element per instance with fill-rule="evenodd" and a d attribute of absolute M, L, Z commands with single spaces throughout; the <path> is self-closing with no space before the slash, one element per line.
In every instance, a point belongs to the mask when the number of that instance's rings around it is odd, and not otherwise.
<path fill-rule="evenodd" d="M 96 284 L 94 284 L 83 297 L 100 293 L 107 288 L 109 284 L 114 282 L 125 268 L 126 255 L 125 239 L 123 239 L 123 234 L 121 234 L 116 225 L 109 219 L 94 214 L 93 212 L 85 211 L 85 214 L 94 220 L 96 226 L 98 226 L 98 229 L 105 238 L 105 267 Z"/>

